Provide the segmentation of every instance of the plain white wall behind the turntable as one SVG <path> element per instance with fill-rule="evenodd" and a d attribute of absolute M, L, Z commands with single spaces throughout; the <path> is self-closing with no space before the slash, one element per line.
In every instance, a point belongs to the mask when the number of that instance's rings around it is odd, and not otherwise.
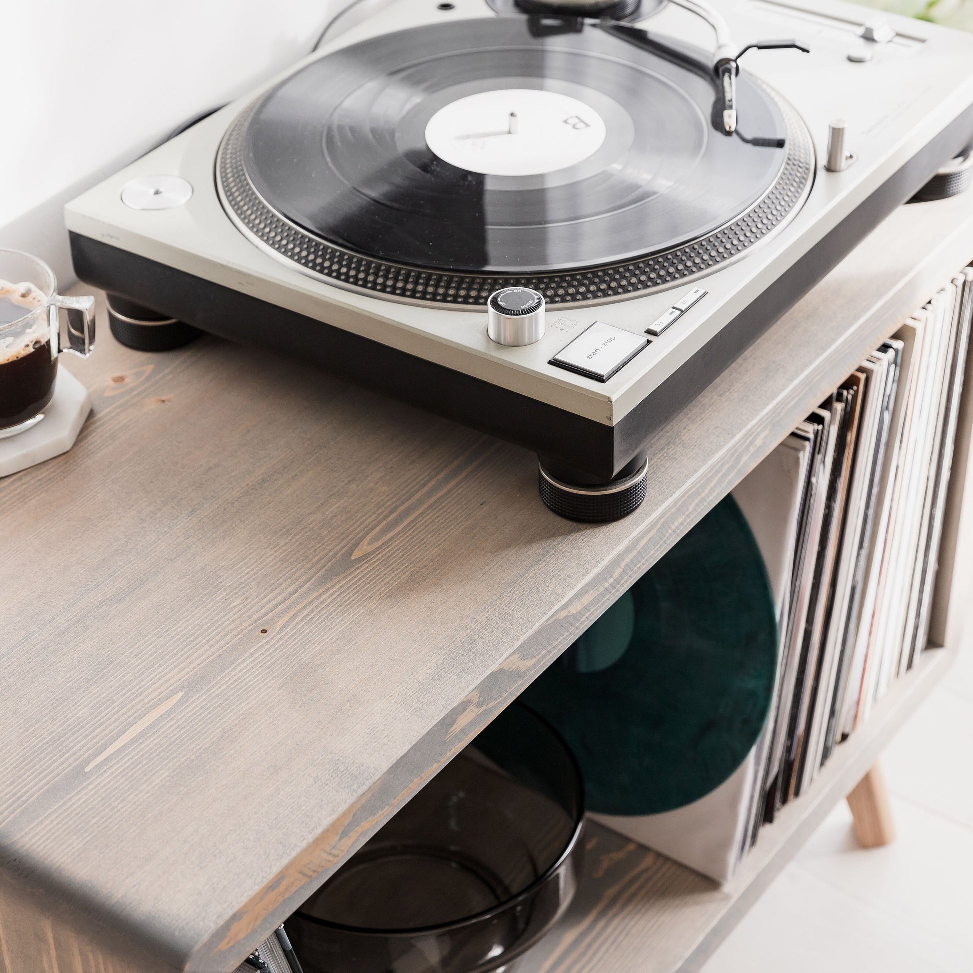
<path fill-rule="evenodd" d="M 304 56 L 346 0 L 3 0 L 0 246 L 73 279 L 66 201 Z"/>

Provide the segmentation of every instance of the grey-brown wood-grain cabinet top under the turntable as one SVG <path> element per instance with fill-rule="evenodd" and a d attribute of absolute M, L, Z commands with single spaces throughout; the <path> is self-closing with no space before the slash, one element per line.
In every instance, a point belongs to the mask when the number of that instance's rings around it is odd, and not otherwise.
<path fill-rule="evenodd" d="M 971 258 L 973 197 L 894 214 L 601 526 L 546 511 L 523 450 L 102 320 L 75 449 L 0 481 L 0 912 L 118 973 L 234 969 Z"/>

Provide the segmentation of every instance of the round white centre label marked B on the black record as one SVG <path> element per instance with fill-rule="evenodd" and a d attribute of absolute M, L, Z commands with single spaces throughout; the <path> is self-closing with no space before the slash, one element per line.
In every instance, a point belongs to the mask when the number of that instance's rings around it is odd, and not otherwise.
<path fill-rule="evenodd" d="M 538 176 L 595 155 L 604 120 L 556 91 L 483 91 L 441 108 L 426 144 L 444 162 L 489 176 Z"/>

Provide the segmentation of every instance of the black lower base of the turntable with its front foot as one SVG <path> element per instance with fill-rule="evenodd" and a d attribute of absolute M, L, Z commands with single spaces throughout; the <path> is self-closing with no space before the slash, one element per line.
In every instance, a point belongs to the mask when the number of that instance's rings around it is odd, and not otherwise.
<path fill-rule="evenodd" d="M 535 451 L 545 502 L 552 491 L 562 516 L 617 520 L 644 495 L 632 476 L 644 467 L 653 434 L 691 402 L 714 378 L 829 270 L 832 270 L 897 206 L 914 197 L 936 171 L 973 136 L 973 107 L 944 128 L 909 162 L 778 277 L 698 354 L 614 426 L 415 357 L 340 328 L 274 306 L 182 270 L 72 233 L 78 276 L 149 311 L 235 342 L 266 344 L 337 374 L 386 392 Z M 921 203 L 919 203 L 921 205 Z M 649 457 L 651 458 L 651 457 Z M 620 481 L 628 487 L 619 489 Z M 631 487 L 634 486 L 634 490 Z M 562 488 L 561 492 L 558 492 Z M 586 494 L 595 499 L 587 503 Z M 606 502 L 614 496 L 615 503 Z M 578 498 L 581 498 L 580 500 Z M 634 506 L 632 505 L 633 501 Z M 587 504 L 587 505 L 586 505 Z M 586 510 L 590 516 L 586 516 Z"/>

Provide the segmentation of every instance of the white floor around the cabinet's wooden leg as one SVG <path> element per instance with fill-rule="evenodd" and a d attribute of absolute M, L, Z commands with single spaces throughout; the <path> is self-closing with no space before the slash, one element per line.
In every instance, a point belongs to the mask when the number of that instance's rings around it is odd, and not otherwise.
<path fill-rule="evenodd" d="M 898 839 L 839 806 L 703 973 L 973 973 L 970 648 L 883 755 Z"/>

